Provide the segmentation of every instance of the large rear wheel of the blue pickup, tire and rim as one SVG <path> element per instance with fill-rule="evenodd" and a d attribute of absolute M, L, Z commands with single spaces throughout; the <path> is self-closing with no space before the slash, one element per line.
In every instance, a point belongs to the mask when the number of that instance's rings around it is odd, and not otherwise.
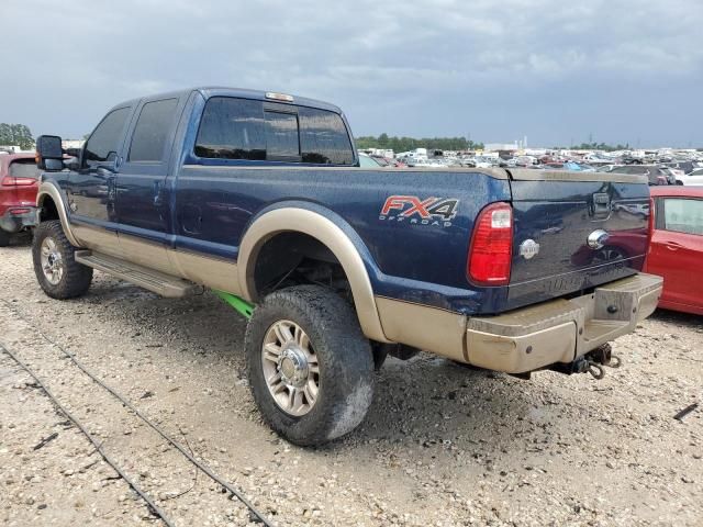
<path fill-rule="evenodd" d="M 321 445 L 361 423 L 373 395 L 373 356 L 352 305 L 317 285 L 269 294 L 254 311 L 245 350 L 252 393 L 291 442 Z"/>

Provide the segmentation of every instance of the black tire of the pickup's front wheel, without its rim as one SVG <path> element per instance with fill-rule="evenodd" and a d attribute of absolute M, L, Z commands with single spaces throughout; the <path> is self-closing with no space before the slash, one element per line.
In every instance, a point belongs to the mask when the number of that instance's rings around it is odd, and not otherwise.
<path fill-rule="evenodd" d="M 42 270 L 42 243 L 47 237 L 53 238 L 56 243 L 65 266 L 62 280 L 57 284 L 51 283 Z M 64 234 L 62 222 L 58 220 L 43 222 L 34 229 L 34 238 L 32 240 L 34 273 L 44 292 L 52 299 L 74 299 L 85 294 L 90 288 L 92 268 L 76 261 L 74 258 L 76 249 L 68 242 L 66 234 Z"/>

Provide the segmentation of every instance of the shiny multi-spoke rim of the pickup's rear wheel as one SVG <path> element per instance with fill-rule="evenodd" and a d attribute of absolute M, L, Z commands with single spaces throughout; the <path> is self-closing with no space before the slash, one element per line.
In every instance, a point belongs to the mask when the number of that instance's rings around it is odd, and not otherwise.
<path fill-rule="evenodd" d="M 308 414 L 320 393 L 320 363 L 310 337 L 298 324 L 271 324 L 261 345 L 268 391 L 279 408 L 295 417 Z"/>

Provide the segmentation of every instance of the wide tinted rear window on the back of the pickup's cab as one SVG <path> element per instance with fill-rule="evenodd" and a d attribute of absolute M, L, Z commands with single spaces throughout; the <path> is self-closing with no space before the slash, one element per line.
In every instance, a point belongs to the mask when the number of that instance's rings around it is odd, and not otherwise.
<path fill-rule="evenodd" d="M 208 101 L 194 154 L 210 159 L 286 160 L 352 165 L 354 150 L 342 116 L 294 105 L 215 97 Z"/>

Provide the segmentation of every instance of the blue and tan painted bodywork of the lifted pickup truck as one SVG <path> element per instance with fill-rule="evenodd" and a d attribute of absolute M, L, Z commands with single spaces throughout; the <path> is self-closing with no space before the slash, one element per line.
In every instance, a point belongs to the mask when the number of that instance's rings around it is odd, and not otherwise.
<path fill-rule="evenodd" d="M 406 323 L 429 313 L 435 326 L 450 329 L 447 349 L 464 346 L 467 316 L 577 293 L 641 268 L 647 217 L 637 211 L 648 195 L 637 178 L 203 159 L 194 154 L 194 142 L 212 97 L 265 100 L 264 92 L 209 88 L 120 104 L 115 109 L 127 108 L 130 117 L 114 162 L 45 175 L 42 189 L 52 190 L 40 191 L 40 205 L 47 198 L 56 202 L 76 245 L 252 301 L 260 244 L 286 231 L 310 234 L 341 261 L 367 336 L 400 340 L 401 333 L 415 332 L 402 341 L 421 346 L 425 326 L 402 328 L 397 314 L 405 313 Z M 163 159 L 126 162 L 141 109 L 168 98 L 178 99 L 178 119 Z M 333 111 L 346 124 L 331 104 L 301 98 L 294 104 Z M 417 215 L 403 216 L 408 209 L 384 210 L 389 197 L 413 197 L 427 206 L 448 200 L 455 214 L 449 222 L 412 221 Z M 514 208 L 512 277 L 509 285 L 479 287 L 467 279 L 467 256 L 476 218 L 493 202 Z M 596 228 L 632 233 L 633 242 L 620 254 L 583 255 Z M 528 259 L 520 253 L 527 238 L 540 247 Z"/>

